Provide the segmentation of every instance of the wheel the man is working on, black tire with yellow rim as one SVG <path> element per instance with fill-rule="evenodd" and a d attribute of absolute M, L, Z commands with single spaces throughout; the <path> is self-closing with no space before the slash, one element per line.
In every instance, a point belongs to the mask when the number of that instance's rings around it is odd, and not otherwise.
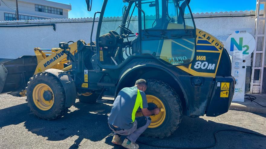
<path fill-rule="evenodd" d="M 170 136 L 182 120 L 182 104 L 179 96 L 164 82 L 147 80 L 147 101 L 156 104 L 162 111 L 151 117 L 151 125 L 143 133 L 146 136 L 164 138 Z"/>

